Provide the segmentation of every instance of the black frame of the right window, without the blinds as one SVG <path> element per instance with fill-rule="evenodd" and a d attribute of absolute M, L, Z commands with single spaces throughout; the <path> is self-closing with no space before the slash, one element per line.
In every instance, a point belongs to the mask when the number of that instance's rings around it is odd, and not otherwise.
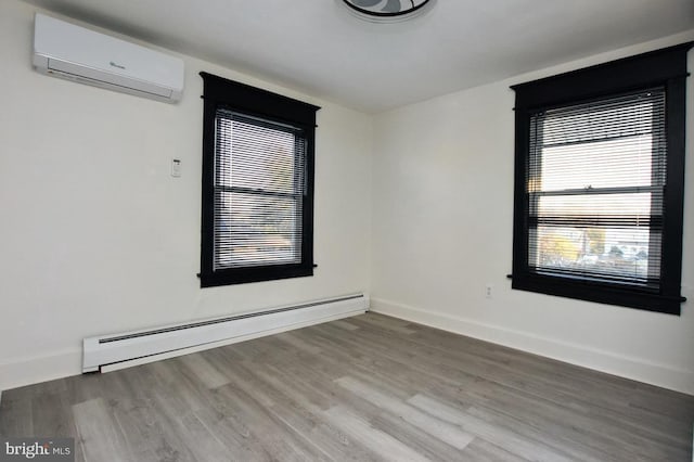
<path fill-rule="evenodd" d="M 553 77 L 512 86 L 515 91 L 515 172 L 512 288 L 562 297 L 680 315 L 686 55 L 694 42 L 625 57 Z M 529 266 L 528 159 L 530 119 L 538 112 L 606 99 L 648 88 L 666 91 L 667 177 L 659 288 L 656 292 L 607 281 L 570 279 L 534 272 Z"/>

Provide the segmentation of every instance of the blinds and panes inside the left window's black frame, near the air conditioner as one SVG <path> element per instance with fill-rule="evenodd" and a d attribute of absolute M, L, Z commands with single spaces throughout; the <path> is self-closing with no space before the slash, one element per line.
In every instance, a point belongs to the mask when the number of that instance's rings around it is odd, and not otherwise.
<path fill-rule="evenodd" d="M 303 130 L 218 108 L 214 269 L 301 262 Z"/>

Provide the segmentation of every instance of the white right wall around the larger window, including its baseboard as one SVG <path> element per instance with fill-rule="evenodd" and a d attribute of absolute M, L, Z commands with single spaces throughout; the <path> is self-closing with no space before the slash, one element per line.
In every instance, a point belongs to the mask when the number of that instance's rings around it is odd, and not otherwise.
<path fill-rule="evenodd" d="M 682 316 L 511 291 L 510 85 L 676 44 L 694 30 L 377 116 L 372 309 L 694 394 L 694 86 Z M 689 56 L 694 68 L 694 52 Z M 491 283 L 492 298 L 485 298 Z"/>

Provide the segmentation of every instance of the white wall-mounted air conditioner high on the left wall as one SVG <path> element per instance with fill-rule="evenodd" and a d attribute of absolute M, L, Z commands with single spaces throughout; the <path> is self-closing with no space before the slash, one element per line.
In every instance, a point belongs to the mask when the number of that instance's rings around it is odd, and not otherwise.
<path fill-rule="evenodd" d="M 34 65 L 40 73 L 158 101 L 183 93 L 183 61 L 36 14 Z"/>

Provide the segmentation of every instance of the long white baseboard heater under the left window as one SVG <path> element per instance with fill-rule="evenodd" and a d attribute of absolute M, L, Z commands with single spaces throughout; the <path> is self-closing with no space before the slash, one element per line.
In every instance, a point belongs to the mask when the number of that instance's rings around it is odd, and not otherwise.
<path fill-rule="evenodd" d="M 174 324 L 83 341 L 82 372 L 102 371 L 119 363 L 178 356 L 278 332 L 364 313 L 364 294 L 309 301 L 264 311 Z M 107 369 L 107 368 L 106 368 Z"/>

